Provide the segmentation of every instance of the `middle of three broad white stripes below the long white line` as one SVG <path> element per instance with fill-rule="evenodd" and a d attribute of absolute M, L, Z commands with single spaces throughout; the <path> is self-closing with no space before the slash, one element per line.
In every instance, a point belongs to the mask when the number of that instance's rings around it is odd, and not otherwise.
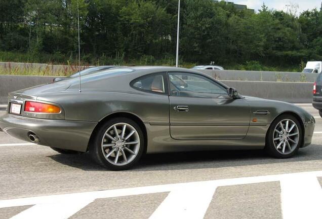
<path fill-rule="evenodd" d="M 217 187 L 186 186 L 172 191 L 158 206 L 150 219 L 204 218 Z"/>

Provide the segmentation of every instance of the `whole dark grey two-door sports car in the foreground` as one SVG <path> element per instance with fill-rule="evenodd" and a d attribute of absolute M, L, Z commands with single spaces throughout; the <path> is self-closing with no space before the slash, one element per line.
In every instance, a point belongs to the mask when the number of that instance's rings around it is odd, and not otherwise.
<path fill-rule="evenodd" d="M 129 67 L 9 94 L 0 128 L 60 153 L 87 152 L 112 170 L 147 153 L 265 149 L 289 158 L 314 118 L 293 104 L 244 97 L 199 71 Z"/>

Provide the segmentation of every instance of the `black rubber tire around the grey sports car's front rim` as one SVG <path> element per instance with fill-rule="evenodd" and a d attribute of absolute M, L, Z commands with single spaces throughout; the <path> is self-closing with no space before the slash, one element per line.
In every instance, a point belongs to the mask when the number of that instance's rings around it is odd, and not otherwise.
<path fill-rule="evenodd" d="M 281 154 L 274 146 L 274 142 L 273 142 L 273 136 L 274 136 L 274 129 L 275 127 L 277 126 L 277 124 L 280 122 L 280 121 L 283 121 L 285 119 L 290 119 L 292 121 L 295 122 L 295 124 L 297 125 L 298 127 L 298 130 L 299 130 L 299 140 L 298 140 L 298 143 L 296 145 L 296 147 L 294 146 L 294 150 L 293 152 L 289 153 L 289 154 Z M 302 130 L 302 127 L 301 127 L 301 124 L 300 122 L 298 121 L 297 118 L 295 118 L 294 116 L 292 115 L 281 115 L 279 117 L 277 117 L 273 122 L 272 124 L 270 125 L 269 127 L 269 130 L 267 132 L 267 135 L 266 135 L 266 146 L 265 146 L 265 151 L 272 157 L 275 157 L 275 158 L 280 158 L 280 159 L 284 159 L 284 158 L 291 158 L 292 156 L 294 156 L 297 151 L 299 150 L 300 146 L 301 146 L 301 143 L 303 142 L 303 130 Z"/>

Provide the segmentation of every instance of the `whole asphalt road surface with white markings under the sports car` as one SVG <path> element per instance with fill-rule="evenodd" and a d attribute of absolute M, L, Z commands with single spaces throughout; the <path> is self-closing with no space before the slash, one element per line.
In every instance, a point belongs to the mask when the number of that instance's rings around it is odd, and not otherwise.
<path fill-rule="evenodd" d="M 322 118 L 301 107 L 316 117 L 313 141 L 285 160 L 160 154 L 113 172 L 0 132 L 0 218 L 322 218 Z"/>

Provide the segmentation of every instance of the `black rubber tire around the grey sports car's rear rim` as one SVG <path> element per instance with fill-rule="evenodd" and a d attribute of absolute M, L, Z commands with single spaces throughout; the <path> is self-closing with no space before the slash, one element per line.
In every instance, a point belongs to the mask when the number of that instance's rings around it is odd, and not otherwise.
<path fill-rule="evenodd" d="M 107 129 L 109 127 L 111 127 L 114 124 L 117 123 L 127 123 L 129 125 L 131 125 L 132 127 L 135 128 L 135 130 L 138 133 L 139 139 L 140 139 L 140 143 L 139 143 L 139 149 L 138 152 L 136 154 L 136 157 L 129 163 L 122 165 L 122 166 L 117 166 L 117 165 L 113 165 L 112 163 L 108 162 L 107 159 L 105 158 L 104 154 L 103 154 L 103 150 L 102 150 L 102 139 L 103 136 L 105 134 L 105 132 L 107 131 Z M 140 128 L 140 126 L 134 122 L 133 120 L 129 119 L 129 118 L 124 118 L 124 117 L 119 117 L 119 118 L 113 118 L 109 121 L 107 121 L 105 124 L 103 124 L 101 127 L 99 127 L 99 129 L 94 133 L 93 139 L 90 143 L 90 154 L 91 157 L 93 158 L 93 160 L 95 162 L 97 162 L 99 165 L 109 169 L 109 170 L 127 170 L 132 168 L 141 158 L 143 152 L 144 152 L 144 145 L 145 145 L 145 139 L 144 139 L 144 135 L 143 132 Z"/>

